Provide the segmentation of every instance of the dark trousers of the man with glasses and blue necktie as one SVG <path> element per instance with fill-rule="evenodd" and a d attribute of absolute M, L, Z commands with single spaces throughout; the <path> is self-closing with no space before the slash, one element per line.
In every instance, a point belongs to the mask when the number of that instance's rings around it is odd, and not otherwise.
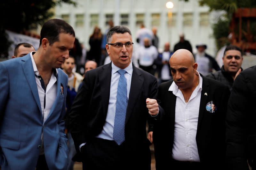
<path fill-rule="evenodd" d="M 138 160 L 137 153 L 129 153 L 125 145 L 125 142 L 117 145 L 115 141 L 95 137 L 82 147 L 83 170 L 150 170 L 151 157 Z"/>

